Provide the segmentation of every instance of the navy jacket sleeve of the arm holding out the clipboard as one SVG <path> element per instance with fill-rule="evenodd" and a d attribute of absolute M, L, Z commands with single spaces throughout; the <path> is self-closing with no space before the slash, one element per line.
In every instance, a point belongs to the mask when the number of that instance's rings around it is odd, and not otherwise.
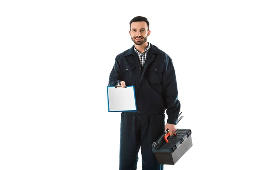
<path fill-rule="evenodd" d="M 108 85 L 109 86 L 114 86 L 118 84 L 118 80 L 121 82 L 121 69 L 120 69 L 120 65 L 119 65 L 119 61 L 117 59 L 117 57 L 115 58 L 115 63 L 113 65 L 112 71 L 109 75 L 109 80 L 108 80 Z"/>

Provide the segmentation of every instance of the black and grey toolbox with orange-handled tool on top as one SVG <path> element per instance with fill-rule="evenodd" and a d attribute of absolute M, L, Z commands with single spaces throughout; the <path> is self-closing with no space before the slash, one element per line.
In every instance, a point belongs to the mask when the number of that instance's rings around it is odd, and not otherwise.
<path fill-rule="evenodd" d="M 158 140 L 152 143 L 152 152 L 158 163 L 174 165 L 192 147 L 191 133 L 190 129 L 177 129 L 174 136 L 169 136 L 169 130 L 165 130 Z"/>

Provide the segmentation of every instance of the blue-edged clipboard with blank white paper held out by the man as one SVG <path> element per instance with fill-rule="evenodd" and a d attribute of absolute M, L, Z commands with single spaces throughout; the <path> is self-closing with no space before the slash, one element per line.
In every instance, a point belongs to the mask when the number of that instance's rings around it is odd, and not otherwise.
<path fill-rule="evenodd" d="M 124 88 L 118 85 L 107 86 L 108 112 L 136 112 L 134 85 Z"/>

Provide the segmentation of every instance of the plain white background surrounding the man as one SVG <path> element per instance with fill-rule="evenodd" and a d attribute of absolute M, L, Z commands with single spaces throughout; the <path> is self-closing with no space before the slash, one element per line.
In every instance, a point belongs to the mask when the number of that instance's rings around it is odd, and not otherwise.
<path fill-rule="evenodd" d="M 0 0 L 0 169 L 118 170 L 108 113 L 129 21 L 172 57 L 193 147 L 165 170 L 255 169 L 253 0 Z M 122 99 L 122 98 L 121 98 Z M 140 155 L 139 155 L 140 156 Z M 141 170 L 141 157 L 138 162 Z"/>

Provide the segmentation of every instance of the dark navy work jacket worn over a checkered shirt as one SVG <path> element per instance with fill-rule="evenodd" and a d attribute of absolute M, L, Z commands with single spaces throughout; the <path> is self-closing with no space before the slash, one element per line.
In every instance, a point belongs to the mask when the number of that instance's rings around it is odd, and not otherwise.
<path fill-rule="evenodd" d="M 159 114 L 166 111 L 167 123 L 177 125 L 180 101 L 175 69 L 172 59 L 164 51 L 151 44 L 143 69 L 134 45 L 118 54 L 108 85 L 117 85 L 118 81 L 124 81 L 126 86 L 134 85 L 137 112 L 129 113 Z"/>

